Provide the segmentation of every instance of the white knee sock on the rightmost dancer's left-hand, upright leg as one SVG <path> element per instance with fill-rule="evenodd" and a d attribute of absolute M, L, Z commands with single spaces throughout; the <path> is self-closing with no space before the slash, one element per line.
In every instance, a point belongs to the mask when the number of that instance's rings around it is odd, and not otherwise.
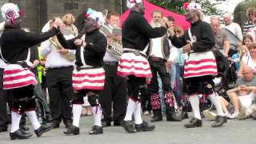
<path fill-rule="evenodd" d="M 198 94 L 194 94 L 190 96 L 190 104 L 194 113 L 194 118 L 202 119 L 200 115 L 200 109 L 199 109 Z"/>

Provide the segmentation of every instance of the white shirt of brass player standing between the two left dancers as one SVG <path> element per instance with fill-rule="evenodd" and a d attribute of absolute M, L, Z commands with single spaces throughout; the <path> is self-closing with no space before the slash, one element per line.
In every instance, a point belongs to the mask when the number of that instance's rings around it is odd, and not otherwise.
<path fill-rule="evenodd" d="M 69 53 L 75 55 L 75 50 L 69 50 Z M 62 54 L 59 54 L 58 50 L 49 40 L 41 43 L 41 54 L 46 56 L 47 68 L 74 66 L 74 60 L 70 61 Z"/>

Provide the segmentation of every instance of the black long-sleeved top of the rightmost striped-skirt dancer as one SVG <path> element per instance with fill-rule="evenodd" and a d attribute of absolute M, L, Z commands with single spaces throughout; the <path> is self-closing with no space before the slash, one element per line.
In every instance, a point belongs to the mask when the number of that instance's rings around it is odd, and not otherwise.
<path fill-rule="evenodd" d="M 213 30 L 208 23 L 198 20 L 198 22 L 192 23 L 190 31 L 192 36 L 196 38 L 196 42 L 192 46 L 194 52 L 209 51 L 215 46 Z M 186 31 L 183 37 L 177 38 L 174 36 L 170 40 L 174 46 L 182 47 L 187 44 L 187 40 L 190 41 L 190 36 L 188 31 Z"/>

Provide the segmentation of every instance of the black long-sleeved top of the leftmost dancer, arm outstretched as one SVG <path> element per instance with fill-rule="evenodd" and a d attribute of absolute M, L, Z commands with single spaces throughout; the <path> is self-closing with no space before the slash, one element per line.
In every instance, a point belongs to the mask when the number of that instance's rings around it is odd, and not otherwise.
<path fill-rule="evenodd" d="M 30 47 L 46 41 L 58 32 L 56 28 L 42 34 L 25 32 L 20 29 L 6 29 L 2 32 L 0 38 L 2 56 L 10 63 L 26 60 Z"/>

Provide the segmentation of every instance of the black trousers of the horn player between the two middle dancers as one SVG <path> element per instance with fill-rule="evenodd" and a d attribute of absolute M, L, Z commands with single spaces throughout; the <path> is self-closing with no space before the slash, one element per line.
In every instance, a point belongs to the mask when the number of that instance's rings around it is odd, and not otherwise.
<path fill-rule="evenodd" d="M 108 122 L 120 122 L 126 115 L 127 106 L 127 84 L 126 79 L 116 74 L 118 65 L 104 64 L 106 74 L 104 90 L 100 93 L 100 104 L 102 106 L 102 114 Z M 112 114 L 113 105 L 113 118 Z"/>

